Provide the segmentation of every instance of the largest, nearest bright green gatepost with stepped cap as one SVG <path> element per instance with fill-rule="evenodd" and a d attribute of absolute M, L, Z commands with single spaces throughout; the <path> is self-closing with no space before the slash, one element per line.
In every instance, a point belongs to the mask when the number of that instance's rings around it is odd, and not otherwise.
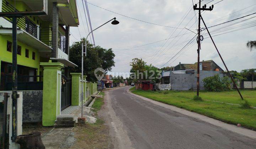
<path fill-rule="evenodd" d="M 60 115 L 61 68 L 59 62 L 41 62 L 43 66 L 43 126 L 53 126 L 57 115 Z"/>

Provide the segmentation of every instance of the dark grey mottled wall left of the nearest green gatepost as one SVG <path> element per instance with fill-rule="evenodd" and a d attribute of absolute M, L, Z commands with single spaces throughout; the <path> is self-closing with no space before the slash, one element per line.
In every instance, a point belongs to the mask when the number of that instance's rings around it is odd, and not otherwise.
<path fill-rule="evenodd" d="M 23 92 L 23 122 L 41 122 L 43 110 L 43 90 Z"/>

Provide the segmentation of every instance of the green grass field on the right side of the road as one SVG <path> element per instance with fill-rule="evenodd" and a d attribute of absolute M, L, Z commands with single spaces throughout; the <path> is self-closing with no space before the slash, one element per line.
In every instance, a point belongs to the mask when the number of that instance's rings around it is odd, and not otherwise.
<path fill-rule="evenodd" d="M 193 96 L 196 95 L 196 92 L 192 91 L 167 91 L 165 92 L 167 94 L 164 94 L 163 92 L 134 90 L 134 88 L 131 88 L 130 90 L 134 94 L 138 94 L 149 99 L 174 105 L 182 109 L 196 112 L 234 125 L 240 123 L 242 127 L 256 130 L 256 109 L 242 109 L 237 105 L 224 104 L 242 103 L 242 100 L 236 91 L 202 91 L 199 95 L 204 101 L 194 101 L 192 99 Z M 241 90 L 241 94 L 252 106 L 256 106 L 256 90 Z M 221 101 L 224 103 L 206 100 Z"/>

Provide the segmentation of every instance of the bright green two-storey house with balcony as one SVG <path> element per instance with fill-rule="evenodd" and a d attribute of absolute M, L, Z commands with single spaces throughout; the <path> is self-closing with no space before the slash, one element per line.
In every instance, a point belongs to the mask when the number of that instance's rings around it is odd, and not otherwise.
<path fill-rule="evenodd" d="M 0 0 L 1 12 L 37 11 L 42 7 L 43 0 L 16 0 L 16 4 L 14 0 Z M 69 61 L 69 28 L 78 25 L 76 0 L 48 0 L 48 15 L 18 18 L 18 82 L 42 81 L 40 62 L 52 60 L 61 62 L 66 68 L 76 66 Z M 11 63 L 12 19 L 0 17 L 0 90 L 10 90 Z M 68 69 L 65 73 L 68 75 Z"/>

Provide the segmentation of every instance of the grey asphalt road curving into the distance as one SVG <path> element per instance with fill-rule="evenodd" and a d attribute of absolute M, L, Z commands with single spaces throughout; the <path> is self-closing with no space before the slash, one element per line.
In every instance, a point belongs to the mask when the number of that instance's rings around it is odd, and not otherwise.
<path fill-rule="evenodd" d="M 105 92 L 109 148 L 256 148 L 256 140 L 145 101 L 130 87 Z"/>

